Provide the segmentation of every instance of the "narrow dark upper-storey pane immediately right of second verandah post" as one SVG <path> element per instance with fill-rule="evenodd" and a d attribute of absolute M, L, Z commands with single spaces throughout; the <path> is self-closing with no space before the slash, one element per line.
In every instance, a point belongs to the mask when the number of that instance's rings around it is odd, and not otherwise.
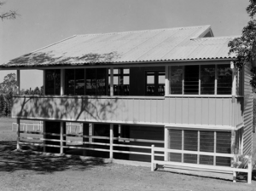
<path fill-rule="evenodd" d="M 74 69 L 68 69 L 65 71 L 65 94 L 66 95 L 75 95 L 75 78 L 74 78 Z"/>

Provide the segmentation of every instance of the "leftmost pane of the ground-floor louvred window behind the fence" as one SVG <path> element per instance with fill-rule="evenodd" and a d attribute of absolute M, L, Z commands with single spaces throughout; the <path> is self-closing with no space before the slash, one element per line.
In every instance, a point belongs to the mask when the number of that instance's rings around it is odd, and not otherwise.
<path fill-rule="evenodd" d="M 182 130 L 169 130 L 170 136 L 170 148 L 171 149 L 182 149 Z M 170 153 L 170 160 L 174 162 L 182 161 L 181 153 Z"/>

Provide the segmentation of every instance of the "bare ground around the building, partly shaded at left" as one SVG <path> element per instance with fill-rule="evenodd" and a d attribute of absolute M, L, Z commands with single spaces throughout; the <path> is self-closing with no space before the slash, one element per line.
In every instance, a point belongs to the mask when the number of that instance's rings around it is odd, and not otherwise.
<path fill-rule="evenodd" d="M 147 167 L 104 164 L 100 159 L 44 156 L 14 152 L 14 119 L 0 118 L 0 190 L 246 190 L 256 191 L 256 173 L 249 185 L 246 177 L 236 183 L 196 177 Z M 253 134 L 254 149 L 256 136 Z"/>

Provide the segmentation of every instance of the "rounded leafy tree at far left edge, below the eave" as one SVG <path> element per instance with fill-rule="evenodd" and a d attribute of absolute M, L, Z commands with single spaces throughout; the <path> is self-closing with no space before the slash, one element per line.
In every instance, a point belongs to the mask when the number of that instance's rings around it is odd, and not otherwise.
<path fill-rule="evenodd" d="M 17 88 L 16 74 L 9 73 L 3 78 L 3 83 L 0 83 L 0 94 L 8 94 Z"/>

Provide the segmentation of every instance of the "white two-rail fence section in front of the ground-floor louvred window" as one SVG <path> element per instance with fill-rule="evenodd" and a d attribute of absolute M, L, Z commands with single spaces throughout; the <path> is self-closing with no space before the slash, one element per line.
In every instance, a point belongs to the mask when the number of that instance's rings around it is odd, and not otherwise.
<path fill-rule="evenodd" d="M 206 152 L 198 152 L 198 151 L 185 151 L 185 150 L 177 150 L 177 149 L 167 149 L 167 148 L 156 148 L 154 145 L 151 146 L 151 171 L 155 171 L 156 165 L 176 165 L 176 166 L 184 166 L 184 167 L 192 167 L 197 169 L 206 169 L 206 170 L 218 170 L 218 171 L 230 171 L 233 172 L 233 182 L 236 182 L 236 172 L 245 172 L 247 173 L 247 182 L 252 183 L 252 158 L 251 156 L 245 156 L 247 158 L 247 169 L 228 167 L 228 166 L 218 166 L 218 165 L 199 165 L 199 164 L 189 164 L 189 163 L 180 163 L 180 162 L 172 162 L 172 161 L 161 161 L 155 160 L 154 156 L 157 156 L 156 151 L 161 151 L 166 153 L 192 153 L 192 154 L 201 154 L 208 156 L 221 156 L 221 157 L 230 157 L 236 159 L 236 154 L 228 154 L 228 153 L 206 153 Z"/>

